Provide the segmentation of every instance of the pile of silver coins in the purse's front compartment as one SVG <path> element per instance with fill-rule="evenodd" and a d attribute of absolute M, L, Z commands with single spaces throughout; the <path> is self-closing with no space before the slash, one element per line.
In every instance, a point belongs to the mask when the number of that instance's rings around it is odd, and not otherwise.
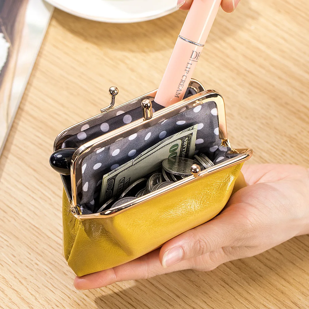
<path fill-rule="evenodd" d="M 139 197 L 191 176 L 191 166 L 193 164 L 198 164 L 201 170 L 214 166 L 214 163 L 204 154 L 195 155 L 194 160 L 178 157 L 165 159 L 162 162 L 161 171 L 135 181 L 118 198 L 112 197 L 105 202 L 98 212 L 134 201 Z"/>

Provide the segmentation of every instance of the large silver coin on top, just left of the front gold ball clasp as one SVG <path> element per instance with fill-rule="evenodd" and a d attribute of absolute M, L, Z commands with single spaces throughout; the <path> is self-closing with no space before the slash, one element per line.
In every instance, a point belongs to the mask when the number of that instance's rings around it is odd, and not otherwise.
<path fill-rule="evenodd" d="M 186 158 L 168 158 L 162 162 L 165 171 L 178 176 L 191 176 L 191 166 L 198 162 Z"/>

